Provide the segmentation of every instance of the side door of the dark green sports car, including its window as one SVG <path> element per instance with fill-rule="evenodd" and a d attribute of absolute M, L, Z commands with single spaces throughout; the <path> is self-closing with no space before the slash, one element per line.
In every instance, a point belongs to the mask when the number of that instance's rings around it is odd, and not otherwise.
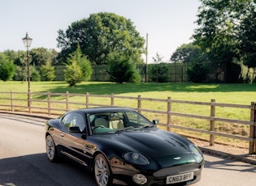
<path fill-rule="evenodd" d="M 82 133 L 73 133 L 69 131 L 69 127 L 78 126 Z M 65 120 L 63 118 L 63 130 L 61 133 L 61 144 L 63 146 L 62 153 L 67 157 L 76 160 L 85 166 L 92 159 L 92 144 L 86 141 L 87 127 L 85 116 L 80 113 L 71 113 Z"/>

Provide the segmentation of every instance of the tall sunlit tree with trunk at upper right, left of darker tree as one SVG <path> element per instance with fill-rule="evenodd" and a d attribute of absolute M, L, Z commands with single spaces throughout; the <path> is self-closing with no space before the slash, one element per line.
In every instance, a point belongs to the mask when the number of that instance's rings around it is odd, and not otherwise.
<path fill-rule="evenodd" d="M 255 6 L 254 0 L 200 0 L 197 15 L 197 29 L 193 35 L 195 43 L 215 64 L 226 66 L 225 82 L 235 82 L 230 69 L 232 61 L 241 58 L 238 35 L 241 22 L 248 16 L 249 6 Z M 238 72 L 239 73 L 239 72 Z"/>

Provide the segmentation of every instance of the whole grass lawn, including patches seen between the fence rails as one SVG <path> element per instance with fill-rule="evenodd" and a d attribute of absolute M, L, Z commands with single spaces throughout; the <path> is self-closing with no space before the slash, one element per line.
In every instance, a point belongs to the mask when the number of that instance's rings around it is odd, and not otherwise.
<path fill-rule="evenodd" d="M 14 92 L 27 92 L 27 82 L 0 82 L 1 91 L 14 91 Z M 210 99 L 215 99 L 216 103 L 223 104 L 245 104 L 250 105 L 251 102 L 256 102 L 256 84 L 192 84 L 192 83 L 123 83 L 117 84 L 112 82 L 82 82 L 76 87 L 68 87 L 66 82 L 31 82 L 32 92 L 47 92 L 52 93 L 69 93 L 85 94 L 89 92 L 90 95 L 124 95 L 137 97 L 141 95 L 142 98 L 158 98 L 158 99 L 171 99 L 176 100 L 191 100 L 198 102 L 210 102 Z M 1 95 L 0 95 L 1 96 Z M 78 98 L 72 98 L 78 99 Z M 91 99 L 90 99 L 91 100 Z M 77 101 L 77 100 L 75 100 Z M 80 100 L 78 100 L 80 101 Z M 81 100 L 85 101 L 85 100 Z M 109 99 L 94 99 L 92 101 L 110 104 Z M 95 103 L 98 104 L 98 103 Z M 131 107 L 131 101 L 119 100 L 115 103 L 119 106 Z M 137 104 L 137 103 L 135 103 Z M 142 108 L 163 110 L 166 111 L 167 105 L 158 103 L 145 102 Z M 171 111 L 184 112 L 202 116 L 210 116 L 209 106 L 195 106 L 190 104 L 173 104 Z M 144 114 L 144 113 L 143 113 Z M 160 122 L 166 122 L 166 118 L 158 116 L 157 114 L 146 115 L 150 119 L 158 118 Z M 232 118 L 236 120 L 249 120 L 249 109 L 238 108 L 216 108 L 216 116 L 223 118 Z M 172 123 L 176 125 L 186 125 L 197 129 L 209 129 L 209 121 L 184 118 L 178 116 L 171 117 Z M 216 122 L 215 130 L 223 133 L 239 134 L 248 137 L 249 126 L 236 125 L 223 122 Z M 178 133 L 186 133 L 189 135 L 197 136 L 197 133 L 190 133 L 188 131 L 177 131 Z M 202 138 L 209 138 L 208 135 L 202 135 Z M 223 137 L 218 137 L 223 141 Z M 230 139 L 225 141 L 234 142 Z M 241 144 L 241 146 L 247 146 Z"/>

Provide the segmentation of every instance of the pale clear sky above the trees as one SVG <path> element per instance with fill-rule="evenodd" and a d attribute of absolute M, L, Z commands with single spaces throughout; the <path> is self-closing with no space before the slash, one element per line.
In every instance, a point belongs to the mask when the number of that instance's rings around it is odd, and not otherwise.
<path fill-rule="evenodd" d="M 29 49 L 57 48 L 58 30 L 99 12 L 130 19 L 146 39 L 148 62 L 156 53 L 169 61 L 181 44 L 191 42 L 197 27 L 198 0 L 8 0 L 0 6 L 0 52 L 26 50 L 22 38 L 33 38 Z M 145 59 L 145 55 L 143 56 Z"/>

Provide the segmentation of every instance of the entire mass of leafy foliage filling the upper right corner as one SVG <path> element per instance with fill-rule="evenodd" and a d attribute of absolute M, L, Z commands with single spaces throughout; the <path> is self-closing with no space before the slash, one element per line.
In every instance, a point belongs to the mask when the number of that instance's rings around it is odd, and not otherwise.
<path fill-rule="evenodd" d="M 235 59 L 255 63 L 255 6 L 254 0 L 200 0 L 196 44 L 211 62 L 232 66 Z M 253 58 L 249 55 L 254 54 Z M 225 74 L 228 74 L 226 68 Z M 231 80 L 231 79 L 230 79 Z M 234 82 L 237 81 L 234 79 Z M 231 81 L 228 81 L 231 82 Z"/>

